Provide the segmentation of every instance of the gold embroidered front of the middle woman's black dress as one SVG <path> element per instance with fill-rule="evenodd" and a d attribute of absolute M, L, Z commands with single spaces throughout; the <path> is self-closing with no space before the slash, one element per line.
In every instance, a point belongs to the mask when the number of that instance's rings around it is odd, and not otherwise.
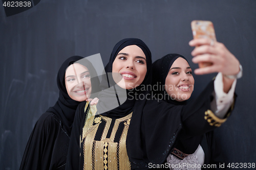
<path fill-rule="evenodd" d="M 80 136 L 83 169 L 131 169 L 125 142 L 132 113 L 114 119 L 97 114 L 96 105 L 88 103 L 84 113 Z"/>

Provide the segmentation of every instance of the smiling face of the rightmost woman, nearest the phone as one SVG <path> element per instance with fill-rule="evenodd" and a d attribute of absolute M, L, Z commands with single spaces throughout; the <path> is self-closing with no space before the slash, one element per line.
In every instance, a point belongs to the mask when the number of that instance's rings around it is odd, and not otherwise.
<path fill-rule="evenodd" d="M 170 67 L 164 89 L 176 101 L 188 100 L 194 89 L 194 77 L 187 61 L 181 57 Z"/>

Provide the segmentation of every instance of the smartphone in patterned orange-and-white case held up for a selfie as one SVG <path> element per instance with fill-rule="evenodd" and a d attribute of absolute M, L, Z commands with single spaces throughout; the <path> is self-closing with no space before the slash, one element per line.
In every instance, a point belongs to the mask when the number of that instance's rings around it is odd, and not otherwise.
<path fill-rule="evenodd" d="M 208 38 L 216 41 L 214 24 L 207 20 L 193 20 L 191 22 L 191 29 L 194 39 L 197 38 Z M 207 67 L 212 65 L 210 62 L 198 63 L 199 68 Z"/>

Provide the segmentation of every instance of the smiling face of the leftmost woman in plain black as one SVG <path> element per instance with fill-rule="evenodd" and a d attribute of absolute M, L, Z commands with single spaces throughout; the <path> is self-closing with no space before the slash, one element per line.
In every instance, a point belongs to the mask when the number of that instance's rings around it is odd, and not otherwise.
<path fill-rule="evenodd" d="M 78 63 L 70 65 L 66 70 L 65 84 L 71 99 L 82 102 L 90 98 L 92 86 L 86 66 Z"/>

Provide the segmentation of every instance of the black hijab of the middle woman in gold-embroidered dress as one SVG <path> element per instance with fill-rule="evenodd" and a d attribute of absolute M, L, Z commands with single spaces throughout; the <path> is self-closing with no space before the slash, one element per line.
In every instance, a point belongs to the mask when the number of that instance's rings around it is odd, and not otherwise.
<path fill-rule="evenodd" d="M 113 80 L 112 74 L 109 73 L 112 73 L 112 65 L 117 54 L 124 47 L 129 45 L 137 45 L 141 48 L 141 50 L 146 56 L 147 72 L 140 86 L 131 90 L 124 90 L 118 85 L 116 85 L 116 82 L 114 82 Z M 119 41 L 113 48 L 109 63 L 105 66 L 106 76 L 102 77 L 102 82 L 100 83 L 102 91 L 99 93 L 99 103 L 97 104 L 97 109 L 99 113 L 101 113 L 101 115 L 109 116 L 111 118 L 120 118 L 126 116 L 127 114 L 130 114 L 133 111 L 134 105 L 136 103 L 135 95 L 140 93 L 141 87 L 151 83 L 151 65 L 151 52 L 142 40 L 137 38 L 126 38 Z M 109 88 L 112 86 L 114 86 L 114 88 Z M 116 102 L 116 99 L 118 99 L 118 105 L 114 103 Z M 111 107 L 113 106 L 118 107 L 112 109 Z"/>

